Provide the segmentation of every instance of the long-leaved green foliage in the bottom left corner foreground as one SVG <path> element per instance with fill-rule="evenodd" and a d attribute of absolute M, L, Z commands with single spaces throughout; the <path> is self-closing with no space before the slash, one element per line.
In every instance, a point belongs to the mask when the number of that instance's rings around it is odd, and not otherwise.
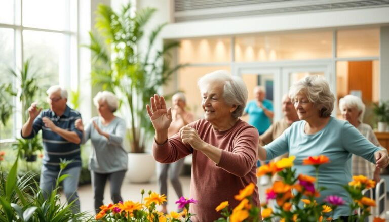
<path fill-rule="evenodd" d="M 62 162 L 66 166 L 66 162 Z M 89 221 L 84 213 L 72 213 L 73 203 L 64 204 L 58 194 L 59 183 L 67 176 L 59 172 L 56 188 L 47 196 L 31 182 L 31 176 L 17 176 L 18 159 L 10 172 L 1 169 L 0 176 L 0 221 Z M 32 191 L 32 192 L 31 192 Z"/>

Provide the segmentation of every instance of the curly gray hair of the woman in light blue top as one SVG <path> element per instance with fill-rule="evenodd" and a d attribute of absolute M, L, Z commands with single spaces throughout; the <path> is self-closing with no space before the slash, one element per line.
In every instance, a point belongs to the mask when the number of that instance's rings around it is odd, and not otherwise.
<path fill-rule="evenodd" d="M 307 76 L 293 83 L 289 89 L 289 98 L 292 103 L 297 94 L 303 93 L 309 102 L 320 110 L 320 117 L 329 117 L 334 109 L 335 96 L 330 90 L 330 85 L 322 76 Z"/>

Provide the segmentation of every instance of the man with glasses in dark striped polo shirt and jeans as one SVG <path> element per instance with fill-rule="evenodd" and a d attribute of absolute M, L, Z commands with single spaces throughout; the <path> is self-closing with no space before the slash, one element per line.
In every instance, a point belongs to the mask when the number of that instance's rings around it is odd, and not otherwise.
<path fill-rule="evenodd" d="M 82 132 L 75 128 L 76 119 L 81 119 L 79 112 L 66 105 L 67 91 L 60 86 L 52 86 L 47 90 L 50 109 L 42 111 L 36 103 L 28 108 L 29 118 L 23 125 L 21 135 L 23 138 L 33 138 L 42 129 L 45 156 L 41 170 L 40 188 L 44 194 L 50 194 L 55 187 L 60 170 L 60 158 L 72 160 L 63 170 L 69 174 L 63 180 L 63 191 L 68 203 L 73 203 L 74 213 L 80 212 L 77 186 L 81 171 L 80 143 Z M 42 111 L 42 112 L 41 112 Z"/>

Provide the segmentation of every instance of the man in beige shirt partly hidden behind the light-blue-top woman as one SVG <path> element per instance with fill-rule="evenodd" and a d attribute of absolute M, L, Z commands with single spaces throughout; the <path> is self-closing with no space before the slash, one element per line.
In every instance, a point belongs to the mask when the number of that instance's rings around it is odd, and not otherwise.
<path fill-rule="evenodd" d="M 287 129 L 293 122 L 299 121 L 297 112 L 294 109 L 292 101 L 288 94 L 285 94 L 282 97 L 282 113 L 284 114 L 284 118 L 281 120 L 274 122 L 271 126 L 259 137 L 259 144 L 264 146 L 266 144 L 271 143 L 276 138 L 281 136 L 281 134 Z M 282 158 L 288 157 L 288 153 L 285 153 L 281 156 L 278 156 L 274 159 L 274 161 L 278 161 Z M 267 176 L 267 175 L 264 175 Z M 280 181 L 281 178 L 279 175 L 273 176 L 273 181 Z"/>

